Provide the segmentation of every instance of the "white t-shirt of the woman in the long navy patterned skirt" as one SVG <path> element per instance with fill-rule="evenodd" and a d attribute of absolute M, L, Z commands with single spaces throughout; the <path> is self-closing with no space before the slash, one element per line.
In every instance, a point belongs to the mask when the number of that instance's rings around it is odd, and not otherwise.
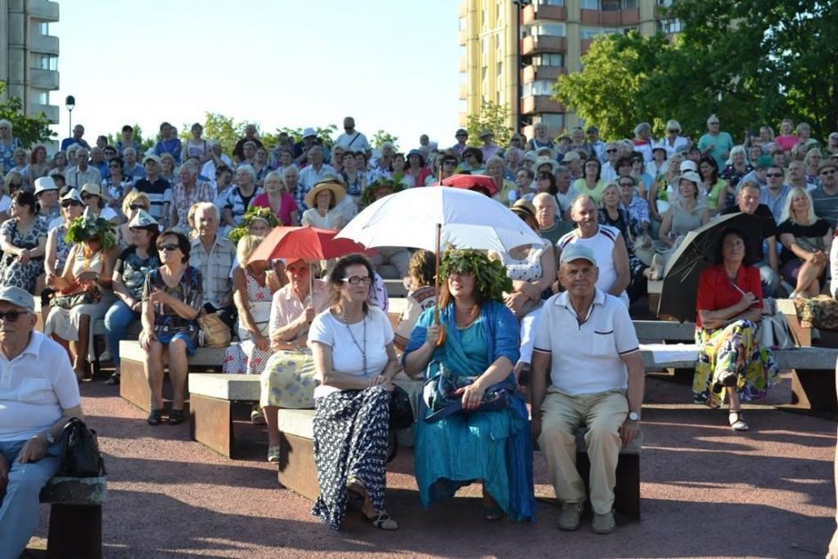
<path fill-rule="evenodd" d="M 351 325 L 343 324 L 333 316 L 332 310 L 327 308 L 315 316 L 308 330 L 308 347 L 312 348 L 315 341 L 332 348 L 334 371 L 369 378 L 381 374 L 387 366 L 386 346 L 393 341 L 393 328 L 390 319 L 378 307 L 369 307 L 364 321 Z M 366 373 L 361 349 L 366 350 Z M 323 379 L 320 378 L 320 381 L 323 382 Z M 321 398 L 338 390 L 340 389 L 321 384 L 315 389 L 314 396 Z"/>

